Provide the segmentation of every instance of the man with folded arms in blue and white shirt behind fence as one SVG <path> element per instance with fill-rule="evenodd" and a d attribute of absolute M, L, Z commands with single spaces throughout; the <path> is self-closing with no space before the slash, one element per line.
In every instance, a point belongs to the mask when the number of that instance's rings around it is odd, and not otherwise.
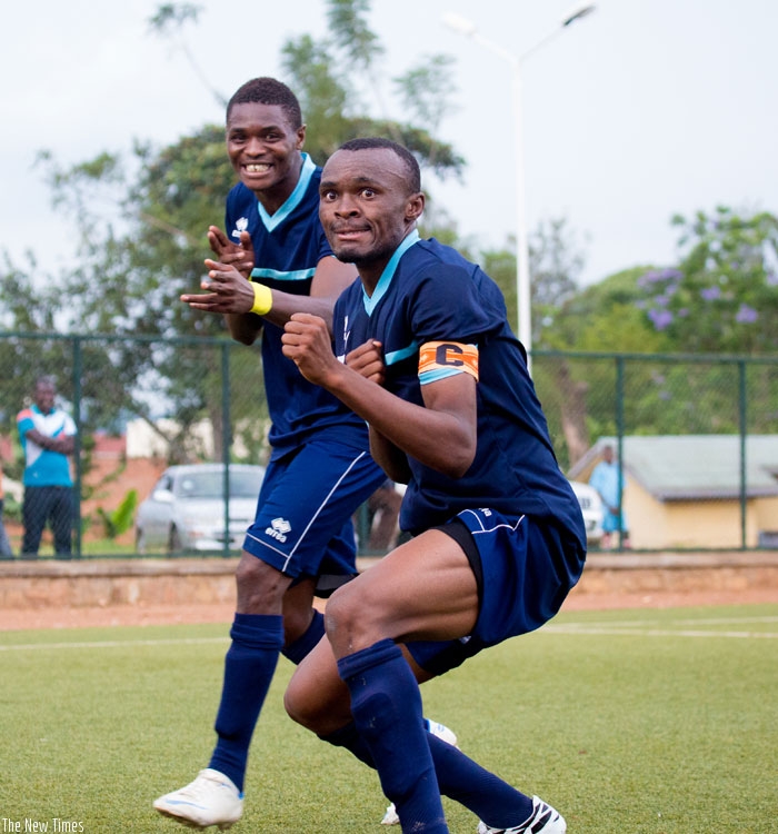
<path fill-rule="evenodd" d="M 54 538 L 57 558 L 71 555 L 73 480 L 69 456 L 76 448 L 76 424 L 54 405 L 57 387 L 51 377 L 36 381 L 33 403 L 17 415 L 24 451 L 22 558 L 36 558 L 47 525 Z"/>

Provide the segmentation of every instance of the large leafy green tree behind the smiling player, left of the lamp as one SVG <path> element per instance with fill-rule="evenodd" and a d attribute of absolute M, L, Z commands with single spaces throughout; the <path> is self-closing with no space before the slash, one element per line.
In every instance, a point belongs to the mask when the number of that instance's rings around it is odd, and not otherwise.
<path fill-rule="evenodd" d="M 299 95 L 308 118 L 308 150 L 317 161 L 323 161 L 346 139 L 366 132 L 391 136 L 408 145 L 422 167 L 437 176 L 458 175 L 463 160 L 435 138 L 429 121 L 420 128 L 391 120 L 385 112 L 371 115 L 360 109 L 356 79 L 369 78 L 373 91 L 381 82 L 378 58 L 382 48 L 367 26 L 368 11 L 368 2 L 332 0 L 327 39 L 317 43 L 303 36 L 283 47 L 286 80 Z M 183 50 L 209 92 L 223 103 L 226 97 L 208 85 L 183 38 L 184 27 L 197 22 L 198 12 L 199 8 L 189 3 L 167 3 L 151 18 L 150 28 Z M 353 72 L 355 61 L 363 71 Z M 336 72 L 338 66 L 348 66 L 349 72 Z M 443 59 L 433 59 L 427 75 L 411 73 L 412 78 L 406 79 L 406 115 L 430 116 L 435 101 L 439 102 L 437 117 L 442 115 L 445 67 Z M 58 304 L 54 294 L 41 296 L 36 290 L 34 264 L 30 274 L 7 264 L 4 324 L 30 332 L 110 334 L 84 350 L 79 385 L 90 425 L 104 426 L 117 415 L 140 416 L 161 433 L 156 418 L 160 411 L 172 414 L 177 429 L 164 439 L 171 445 L 173 460 L 192 454 L 184 441 L 191 436 L 192 424 L 203 417 L 219 441 L 225 428 L 223 351 L 162 342 L 160 337 L 208 336 L 231 345 L 221 317 L 192 311 L 179 300 L 181 292 L 197 291 L 200 286 L 203 258 L 210 254 L 208 226 L 222 225 L 223 200 L 235 183 L 223 127 L 205 125 L 163 148 L 136 140 L 130 152 L 104 151 L 68 168 L 42 151 L 40 165 L 56 207 L 73 218 L 78 264 L 50 281 L 68 298 L 67 305 Z M 132 341 L 118 338 L 122 336 L 131 336 Z M 13 353 L 21 348 L 8 345 L 3 349 Z M 67 355 L 68 349 L 54 342 L 46 349 L 48 356 L 41 347 L 34 361 L 14 367 L 21 376 L 28 368 L 51 365 L 52 351 Z M 262 418 L 267 416 L 256 350 L 235 348 L 230 365 L 232 389 L 251 393 L 233 403 L 232 431 L 240 427 L 245 440 L 252 435 L 243 445 L 253 455 L 256 443 L 263 438 Z M 56 367 L 73 364 L 62 356 Z M 29 384 L 20 379 L 18 387 L 22 381 Z M 218 443 L 215 451 L 221 457 Z"/>

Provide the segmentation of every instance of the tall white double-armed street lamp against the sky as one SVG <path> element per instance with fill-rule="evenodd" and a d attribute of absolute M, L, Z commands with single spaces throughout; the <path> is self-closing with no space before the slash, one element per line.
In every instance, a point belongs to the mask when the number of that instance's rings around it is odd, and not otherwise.
<path fill-rule="evenodd" d="M 531 287 L 529 275 L 529 244 L 527 240 L 527 210 L 525 197 L 525 171 L 523 171 L 523 123 L 521 105 L 521 64 L 545 43 L 576 20 L 585 18 L 595 11 L 595 4 L 577 6 L 570 9 L 559 23 L 533 47 L 526 52 L 516 56 L 498 43 L 485 38 L 476 24 L 467 18 L 447 12 L 443 22 L 460 34 L 472 38 L 477 43 L 502 58 L 511 67 L 513 89 L 513 122 L 516 127 L 516 297 L 518 305 L 518 337 L 527 350 L 527 367 L 531 368 L 530 354 L 532 350 L 532 315 L 531 315 Z"/>

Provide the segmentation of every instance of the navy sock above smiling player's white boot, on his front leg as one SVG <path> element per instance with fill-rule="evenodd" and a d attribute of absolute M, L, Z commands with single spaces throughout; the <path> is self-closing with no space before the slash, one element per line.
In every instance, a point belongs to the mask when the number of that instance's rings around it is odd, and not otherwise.
<path fill-rule="evenodd" d="M 219 738 L 208 766 L 242 793 L 251 736 L 283 646 L 283 617 L 236 614 L 230 637 L 215 725 Z"/>

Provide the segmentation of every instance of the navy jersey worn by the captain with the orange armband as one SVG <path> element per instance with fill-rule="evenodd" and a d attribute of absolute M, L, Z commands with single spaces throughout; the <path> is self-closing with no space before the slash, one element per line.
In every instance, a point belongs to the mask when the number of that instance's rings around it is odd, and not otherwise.
<path fill-rule="evenodd" d="M 443 363 L 422 369 L 420 378 L 422 346 L 455 342 L 478 350 L 476 458 L 462 478 L 452 479 L 409 457 L 412 478 L 400 513 L 403 529 L 418 533 L 462 509 L 490 507 L 508 518 L 542 519 L 585 547 L 580 508 L 553 454 L 523 347 L 508 325 L 502 292 L 480 267 L 411 232 L 371 297 L 361 282 L 341 295 L 335 335 L 338 356 L 368 339 L 379 340 L 386 388 L 417 405 L 423 405 L 422 384 L 447 374 Z M 456 361 L 451 370 L 457 373 Z"/>

